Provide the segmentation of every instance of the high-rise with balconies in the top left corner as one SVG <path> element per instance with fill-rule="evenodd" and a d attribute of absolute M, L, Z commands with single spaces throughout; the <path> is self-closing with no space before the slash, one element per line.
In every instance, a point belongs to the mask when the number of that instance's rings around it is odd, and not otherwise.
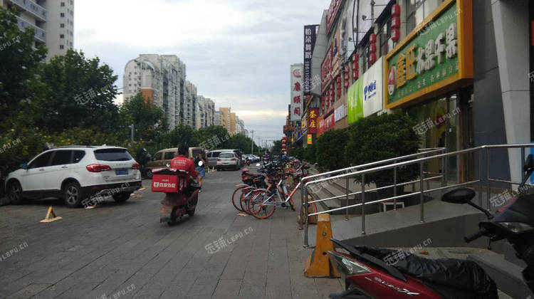
<path fill-rule="evenodd" d="M 33 28 L 36 46 L 48 48 L 46 61 L 73 48 L 74 0 L 0 0 L 0 6 L 16 9 L 21 30 Z"/>

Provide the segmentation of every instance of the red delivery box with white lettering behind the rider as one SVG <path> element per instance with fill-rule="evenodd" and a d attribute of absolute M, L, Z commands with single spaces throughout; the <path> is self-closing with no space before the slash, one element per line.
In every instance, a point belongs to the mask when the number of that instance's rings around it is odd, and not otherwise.
<path fill-rule="evenodd" d="M 178 169 L 154 169 L 152 192 L 179 193 L 189 184 L 189 174 Z"/>

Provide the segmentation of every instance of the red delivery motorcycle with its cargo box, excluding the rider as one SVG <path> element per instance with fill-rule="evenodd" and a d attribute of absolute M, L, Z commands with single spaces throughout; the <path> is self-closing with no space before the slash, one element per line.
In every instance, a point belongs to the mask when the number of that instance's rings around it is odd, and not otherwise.
<path fill-rule="evenodd" d="M 202 166 L 203 162 L 199 162 Z M 154 169 L 152 172 L 152 192 L 164 192 L 165 197 L 161 201 L 161 215 L 159 222 L 167 222 L 169 226 L 177 224 L 185 214 L 194 215 L 197 209 L 199 195 L 189 200 L 192 192 L 199 189 L 197 182 L 185 172 L 179 169 L 169 168 Z"/>

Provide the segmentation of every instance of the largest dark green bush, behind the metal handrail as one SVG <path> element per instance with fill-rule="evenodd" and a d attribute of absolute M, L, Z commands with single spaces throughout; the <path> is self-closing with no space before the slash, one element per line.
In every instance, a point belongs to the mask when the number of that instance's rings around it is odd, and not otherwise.
<path fill-rule="evenodd" d="M 350 127 L 345 149 L 347 162 L 365 164 L 414 154 L 419 148 L 415 122 L 401 111 L 360 118 Z M 397 169 L 397 182 L 409 182 L 419 175 L 417 165 Z M 393 182 L 393 169 L 365 175 L 366 183 Z"/>

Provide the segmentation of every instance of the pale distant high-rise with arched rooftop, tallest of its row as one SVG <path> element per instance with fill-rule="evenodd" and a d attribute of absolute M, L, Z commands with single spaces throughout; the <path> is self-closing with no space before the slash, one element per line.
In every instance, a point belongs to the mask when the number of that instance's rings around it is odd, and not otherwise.
<path fill-rule="evenodd" d="M 123 79 L 124 98 L 130 98 L 141 92 L 143 98 L 161 107 L 172 129 L 181 123 L 187 123 L 187 109 L 194 109 L 189 103 L 185 81 L 185 64 L 175 55 L 142 54 L 128 61 Z M 190 84 L 192 85 L 192 84 Z M 193 85 L 194 86 L 194 85 Z M 194 88 L 196 98 L 197 89 Z M 190 116 L 190 113 L 189 113 Z"/>

